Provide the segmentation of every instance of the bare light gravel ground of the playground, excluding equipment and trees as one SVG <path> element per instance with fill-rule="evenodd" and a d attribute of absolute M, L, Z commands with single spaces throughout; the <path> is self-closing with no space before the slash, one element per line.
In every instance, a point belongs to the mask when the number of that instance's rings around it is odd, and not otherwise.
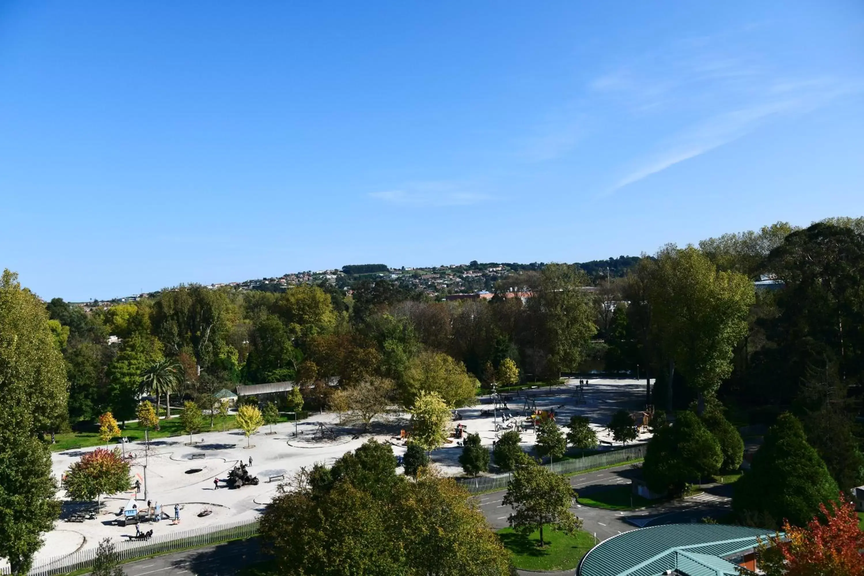
<path fill-rule="evenodd" d="M 565 386 L 553 389 L 524 390 L 511 397 L 508 406 L 512 413 L 522 414 L 525 396 L 534 396 L 537 408 L 556 410 L 556 421 L 563 425 L 569 421 L 570 415 L 587 415 L 594 428 L 597 429 L 600 440 L 611 440 L 603 430 L 609 417 L 619 408 L 641 409 L 645 407 L 645 382 L 635 380 L 594 379 L 585 388 L 586 403 L 576 404 L 576 389 L 578 380 L 569 380 Z M 483 443 L 492 446 L 496 437 L 492 416 L 480 416 L 484 410 L 491 410 L 489 396 L 478 399 L 476 406 L 461 408 L 461 423 L 470 433 L 480 433 Z M 500 416 L 499 416 L 500 418 Z M 319 423 L 332 427 L 337 439 L 332 441 L 314 441 L 311 439 Z M 188 436 L 175 437 L 154 441 L 149 452 L 147 469 L 149 498 L 154 503 L 161 503 L 165 510 L 173 514 L 174 504 L 181 503 L 181 523 L 171 522 L 144 523 L 142 529 L 153 529 L 154 534 L 162 535 L 180 532 L 225 522 L 251 520 L 260 515 L 264 505 L 276 493 L 278 482 L 269 483 L 267 477 L 278 474 L 289 475 L 300 470 L 302 466 L 311 466 L 316 462 L 332 464 L 334 459 L 342 454 L 356 449 L 370 437 L 381 441 L 391 440 L 398 436 L 401 428 L 408 429 L 408 415 L 389 415 L 376 421 L 372 434 L 363 434 L 357 439 L 353 435 L 356 429 L 340 427 L 334 414 L 324 413 L 311 415 L 308 420 L 299 422 L 297 428 L 299 439 L 293 437 L 294 424 L 283 423 L 273 427 L 276 434 L 267 434 L 270 427 L 262 427 L 251 437 L 252 448 L 245 448 L 246 439 L 241 432 L 206 432 L 195 434 L 195 446 L 187 446 Z M 534 443 L 534 433 L 528 431 L 522 434 L 526 449 Z M 290 442 L 290 444 L 289 444 Z M 394 452 L 402 454 L 404 448 L 400 442 L 393 440 Z M 293 446 L 292 446 L 293 445 Z M 86 450 L 73 450 L 64 453 L 54 453 L 53 472 L 57 478 L 79 458 Z M 132 472 L 143 483 L 143 454 L 141 443 L 126 446 L 127 453 L 136 453 Z M 192 454 L 205 454 L 204 459 L 190 459 Z M 458 458 L 461 448 L 455 441 L 442 446 L 432 453 L 433 461 L 439 465 L 445 474 L 461 474 Z M 243 460 L 252 458 L 250 472 L 257 475 L 261 483 L 257 486 L 244 486 L 238 490 L 225 487 L 213 489 L 213 478 L 226 478 L 228 471 Z M 200 468 L 200 472 L 187 474 L 191 469 Z M 62 492 L 58 494 L 63 497 Z M 125 540 L 122 535 L 134 533 L 134 527 L 119 527 L 113 524 L 121 506 L 134 497 L 130 494 L 117 494 L 104 497 L 105 509 L 96 520 L 83 523 L 56 522 L 53 532 L 46 535 L 46 545 L 36 556 L 35 566 L 41 566 L 49 558 L 71 554 L 79 548 L 95 548 L 98 541 L 111 537 L 115 541 Z M 138 495 L 143 505 L 143 491 Z M 209 508 L 213 513 L 199 518 L 200 510 Z"/>

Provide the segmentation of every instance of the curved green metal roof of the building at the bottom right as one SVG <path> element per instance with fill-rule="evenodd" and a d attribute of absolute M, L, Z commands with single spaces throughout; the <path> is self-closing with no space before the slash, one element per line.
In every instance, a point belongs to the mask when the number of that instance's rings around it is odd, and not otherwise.
<path fill-rule="evenodd" d="M 773 532 L 724 524 L 667 524 L 625 532 L 591 548 L 578 576 L 738 576 Z"/>

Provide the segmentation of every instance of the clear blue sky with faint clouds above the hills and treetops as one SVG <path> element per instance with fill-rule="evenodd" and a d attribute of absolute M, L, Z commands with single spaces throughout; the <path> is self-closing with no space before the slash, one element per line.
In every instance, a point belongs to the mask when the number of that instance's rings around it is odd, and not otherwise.
<path fill-rule="evenodd" d="M 864 3 L 0 3 L 0 266 L 106 298 L 864 214 Z"/>

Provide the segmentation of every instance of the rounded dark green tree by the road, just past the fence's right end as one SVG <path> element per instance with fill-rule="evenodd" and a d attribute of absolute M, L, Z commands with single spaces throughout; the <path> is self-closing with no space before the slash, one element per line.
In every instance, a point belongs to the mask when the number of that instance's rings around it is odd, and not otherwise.
<path fill-rule="evenodd" d="M 720 470 L 723 453 L 714 434 L 692 412 L 678 413 L 675 422 L 651 438 L 642 475 L 651 491 L 680 494 L 686 484 Z"/>

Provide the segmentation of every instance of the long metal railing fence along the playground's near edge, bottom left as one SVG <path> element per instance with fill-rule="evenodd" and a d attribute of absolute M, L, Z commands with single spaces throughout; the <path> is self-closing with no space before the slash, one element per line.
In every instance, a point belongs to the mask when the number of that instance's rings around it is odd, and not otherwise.
<path fill-rule="evenodd" d="M 131 560 L 133 558 L 146 558 L 154 554 L 174 552 L 186 548 L 199 548 L 210 544 L 240 538 L 250 538 L 258 535 L 259 520 L 251 522 L 233 522 L 231 524 L 219 524 L 204 528 L 185 530 L 173 534 L 154 535 L 146 541 L 115 541 L 115 549 L 118 560 Z M 149 524 L 148 524 L 149 529 Z M 96 559 L 96 548 L 79 550 L 72 554 L 55 556 L 47 560 L 38 561 L 37 565 L 30 569 L 29 576 L 54 576 L 54 574 L 65 574 L 76 570 L 87 569 L 93 566 Z M 0 574 L 9 574 L 8 567 L 0 569 Z"/>

